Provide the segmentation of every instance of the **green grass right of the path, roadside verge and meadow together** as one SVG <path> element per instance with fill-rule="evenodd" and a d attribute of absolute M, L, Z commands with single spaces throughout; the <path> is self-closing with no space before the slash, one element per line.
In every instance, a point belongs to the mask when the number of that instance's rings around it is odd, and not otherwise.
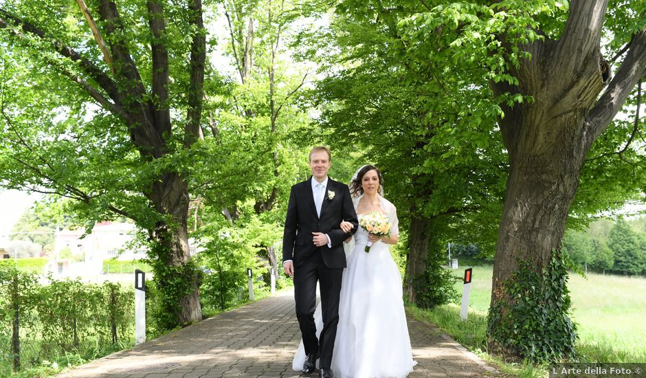
<path fill-rule="evenodd" d="M 463 265 L 454 274 L 463 277 Z M 485 331 L 491 300 L 491 265 L 473 266 L 469 316 L 460 320 L 460 306 L 448 304 L 432 311 L 408 307 L 420 320 L 436 324 L 470 351 L 497 366 L 502 373 L 520 377 L 541 377 L 546 366 L 503 361 L 486 351 Z M 646 362 L 646 278 L 588 274 L 583 278 L 570 274 L 572 320 L 577 323 L 578 358 L 581 362 Z M 456 283 L 463 291 L 463 283 Z"/>

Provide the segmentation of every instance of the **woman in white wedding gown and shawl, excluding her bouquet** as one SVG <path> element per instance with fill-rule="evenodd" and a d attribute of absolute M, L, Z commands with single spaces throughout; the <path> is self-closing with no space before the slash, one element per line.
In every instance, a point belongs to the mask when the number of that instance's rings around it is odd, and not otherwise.
<path fill-rule="evenodd" d="M 399 238 L 397 210 L 383 198 L 383 179 L 375 166 L 362 166 L 350 182 L 353 204 L 361 219 L 372 211 L 388 216 L 390 236 L 378 238 L 359 227 L 346 241 L 348 267 L 344 271 L 339 302 L 339 325 L 334 343 L 332 371 L 337 378 L 403 378 L 412 372 L 408 326 L 403 308 L 401 275 L 390 256 Z M 341 223 L 348 232 L 351 223 Z M 364 247 L 372 243 L 370 252 Z M 315 312 L 318 333 L 323 324 L 321 305 Z M 302 340 L 294 356 L 293 370 L 305 361 Z"/>

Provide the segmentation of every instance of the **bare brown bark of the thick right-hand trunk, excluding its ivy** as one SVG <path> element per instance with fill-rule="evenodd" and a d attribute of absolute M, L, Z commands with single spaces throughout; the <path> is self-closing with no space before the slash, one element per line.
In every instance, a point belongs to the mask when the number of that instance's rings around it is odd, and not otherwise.
<path fill-rule="evenodd" d="M 540 104 L 555 101 L 556 98 L 549 98 Z M 553 109 L 537 102 L 522 110 L 522 116 L 515 113 L 515 117 L 506 120 L 510 124 L 515 122 L 515 127 L 525 132 L 518 134 L 515 145 L 509 148 L 510 172 L 493 265 L 490 311 L 500 309 L 494 315 L 502 318 L 513 311 L 517 300 L 506 293 L 506 285 L 512 284 L 520 261 L 530 262 L 532 269 L 541 274 L 550 265 L 553 251 L 560 249 L 568 210 L 577 193 L 579 173 L 589 148 L 579 142 L 583 140 L 585 118 L 576 108 L 554 115 Z M 514 319 L 522 317 L 509 315 Z M 498 328 L 509 324 L 492 319 L 498 318 L 489 317 L 488 346 L 500 350 L 505 341 L 494 340 L 494 336 L 501 334 Z"/>

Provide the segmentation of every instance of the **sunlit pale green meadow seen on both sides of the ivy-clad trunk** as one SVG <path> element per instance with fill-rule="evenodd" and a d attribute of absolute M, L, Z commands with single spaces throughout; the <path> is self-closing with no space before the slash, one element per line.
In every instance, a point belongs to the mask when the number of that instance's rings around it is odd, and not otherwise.
<path fill-rule="evenodd" d="M 455 274 L 462 277 L 465 268 L 456 269 Z M 471 309 L 489 309 L 492 273 L 490 265 L 474 267 Z M 592 360 L 603 357 L 617 362 L 646 362 L 646 278 L 592 273 L 583 278 L 571 274 L 568 287 L 581 353 Z M 456 289 L 461 295 L 461 281 Z"/>

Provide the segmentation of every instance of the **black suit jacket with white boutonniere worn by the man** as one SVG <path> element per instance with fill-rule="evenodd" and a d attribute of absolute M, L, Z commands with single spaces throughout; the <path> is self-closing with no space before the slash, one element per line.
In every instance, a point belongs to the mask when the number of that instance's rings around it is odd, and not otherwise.
<path fill-rule="evenodd" d="M 346 184 L 328 177 L 328 186 L 321 206 L 320 218 L 316 215 L 312 177 L 291 187 L 285 232 L 282 235 L 282 260 L 293 260 L 294 266 L 301 265 L 311 254 L 320 249 L 323 261 L 328 268 L 346 267 L 346 254 L 343 241 L 352 236 L 359 225 L 357 213 Z M 328 193 L 334 192 L 334 198 L 328 199 Z M 343 232 L 342 221 L 355 225 L 349 233 Z M 316 247 L 312 232 L 322 232 L 330 236 L 332 247 Z"/>

